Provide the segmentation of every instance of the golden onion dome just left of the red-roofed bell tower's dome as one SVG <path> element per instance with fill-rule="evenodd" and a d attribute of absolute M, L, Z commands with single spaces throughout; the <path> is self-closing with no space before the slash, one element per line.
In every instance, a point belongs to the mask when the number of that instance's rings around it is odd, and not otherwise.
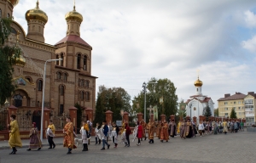
<path fill-rule="evenodd" d="M 41 20 L 44 23 L 47 23 L 48 21 L 47 14 L 45 14 L 44 11 L 39 8 L 39 2 L 37 2 L 36 8 L 26 11 L 25 16 L 27 22 L 30 20 Z"/>

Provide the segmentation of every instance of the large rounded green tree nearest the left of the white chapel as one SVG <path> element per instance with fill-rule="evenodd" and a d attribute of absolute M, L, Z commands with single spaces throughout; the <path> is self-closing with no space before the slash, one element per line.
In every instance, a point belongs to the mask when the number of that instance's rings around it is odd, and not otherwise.
<path fill-rule="evenodd" d="M 156 84 L 152 83 L 156 82 Z M 169 79 L 156 79 L 151 78 L 147 84 L 147 93 L 146 93 L 146 106 L 149 105 L 157 106 L 158 115 L 166 115 L 169 117 L 170 115 L 177 114 L 177 88 L 174 86 L 173 82 Z M 160 98 L 163 98 L 163 103 L 160 104 Z M 135 110 L 137 113 L 144 113 L 144 93 L 143 91 L 139 93 L 132 100 L 132 110 Z M 148 110 L 146 111 L 146 119 L 148 121 Z M 159 117 L 160 119 L 160 117 Z"/>

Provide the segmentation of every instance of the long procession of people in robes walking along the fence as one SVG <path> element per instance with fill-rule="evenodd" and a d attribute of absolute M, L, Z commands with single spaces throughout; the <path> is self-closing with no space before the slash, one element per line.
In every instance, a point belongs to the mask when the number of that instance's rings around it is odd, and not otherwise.
<path fill-rule="evenodd" d="M 15 120 L 15 115 L 10 116 L 10 124 L 9 124 L 9 146 L 11 147 L 12 152 L 10 155 L 15 155 L 17 152 L 16 147 L 22 147 L 22 143 L 20 140 L 20 132 L 18 122 Z M 63 147 L 67 148 L 67 154 L 72 154 L 72 149 L 76 149 L 76 145 L 74 143 L 74 138 L 77 137 L 73 123 L 71 122 L 71 118 L 66 118 L 66 125 L 63 128 L 64 140 Z M 150 120 L 146 123 L 144 120 L 137 121 L 137 126 L 135 126 L 133 132 L 131 132 L 131 128 L 127 121 L 121 126 L 121 135 L 120 140 L 121 143 L 125 145 L 125 147 L 130 147 L 130 136 L 132 135 L 132 141 L 134 142 L 137 139 L 137 146 L 141 145 L 143 140 L 147 139 L 146 132 L 148 131 L 148 143 L 154 143 L 154 137 L 160 139 L 161 143 L 168 142 L 169 138 L 174 138 L 179 133 L 180 138 L 193 138 L 197 134 L 201 137 L 206 134 L 218 134 L 228 132 L 237 132 L 238 130 L 243 131 L 243 122 L 239 121 L 200 121 L 199 124 L 196 124 L 194 121 L 179 121 L 176 125 L 174 120 L 171 121 L 153 121 Z M 92 123 L 90 121 L 83 121 L 80 129 L 81 133 L 81 143 L 83 144 L 82 151 L 88 151 L 88 145 L 90 144 L 90 134 L 92 130 Z M 154 132 L 156 134 L 154 134 Z M 29 134 L 30 145 L 28 151 L 32 149 L 40 150 L 42 148 L 42 142 L 39 138 L 38 128 L 36 127 L 36 123 L 32 123 L 32 129 Z M 119 143 L 119 126 L 116 125 L 115 122 L 108 123 L 107 121 L 102 121 L 102 126 L 99 123 L 96 123 L 95 127 L 96 134 L 96 143 L 102 143 L 102 149 L 105 150 L 105 147 L 110 148 L 110 144 L 108 140 L 113 142 L 113 148 L 118 147 Z M 49 121 L 49 126 L 46 130 L 46 136 L 48 138 L 49 149 L 55 149 L 55 143 L 53 138 L 55 137 L 55 126 L 53 121 Z"/>

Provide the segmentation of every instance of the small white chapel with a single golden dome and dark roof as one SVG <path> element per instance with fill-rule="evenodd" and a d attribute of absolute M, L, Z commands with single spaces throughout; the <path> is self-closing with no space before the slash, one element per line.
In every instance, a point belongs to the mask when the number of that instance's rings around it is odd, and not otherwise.
<path fill-rule="evenodd" d="M 190 96 L 190 98 L 186 101 L 186 112 L 187 115 L 189 115 L 192 118 L 196 117 L 196 122 L 199 122 L 199 116 L 204 115 L 204 111 L 206 110 L 206 107 L 209 106 L 212 112 L 212 115 L 214 114 L 214 103 L 212 102 L 212 98 L 207 97 L 207 95 L 203 95 L 201 92 L 201 87 L 203 85 L 203 82 L 199 79 L 199 76 L 197 80 L 194 83 L 195 85 L 195 95 Z"/>

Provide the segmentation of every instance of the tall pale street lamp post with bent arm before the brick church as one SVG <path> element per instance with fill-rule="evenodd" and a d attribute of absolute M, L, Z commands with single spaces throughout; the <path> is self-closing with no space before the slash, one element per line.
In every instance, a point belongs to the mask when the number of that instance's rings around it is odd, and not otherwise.
<path fill-rule="evenodd" d="M 49 59 L 46 60 L 44 63 L 44 79 L 43 79 L 43 98 L 42 98 L 42 112 L 41 112 L 41 127 L 40 127 L 40 139 L 43 142 L 43 123 L 44 123 L 44 91 L 45 91 L 45 73 L 46 73 L 46 65 L 48 62 L 52 62 L 52 61 L 58 61 L 58 60 L 62 60 L 62 59 Z"/>

